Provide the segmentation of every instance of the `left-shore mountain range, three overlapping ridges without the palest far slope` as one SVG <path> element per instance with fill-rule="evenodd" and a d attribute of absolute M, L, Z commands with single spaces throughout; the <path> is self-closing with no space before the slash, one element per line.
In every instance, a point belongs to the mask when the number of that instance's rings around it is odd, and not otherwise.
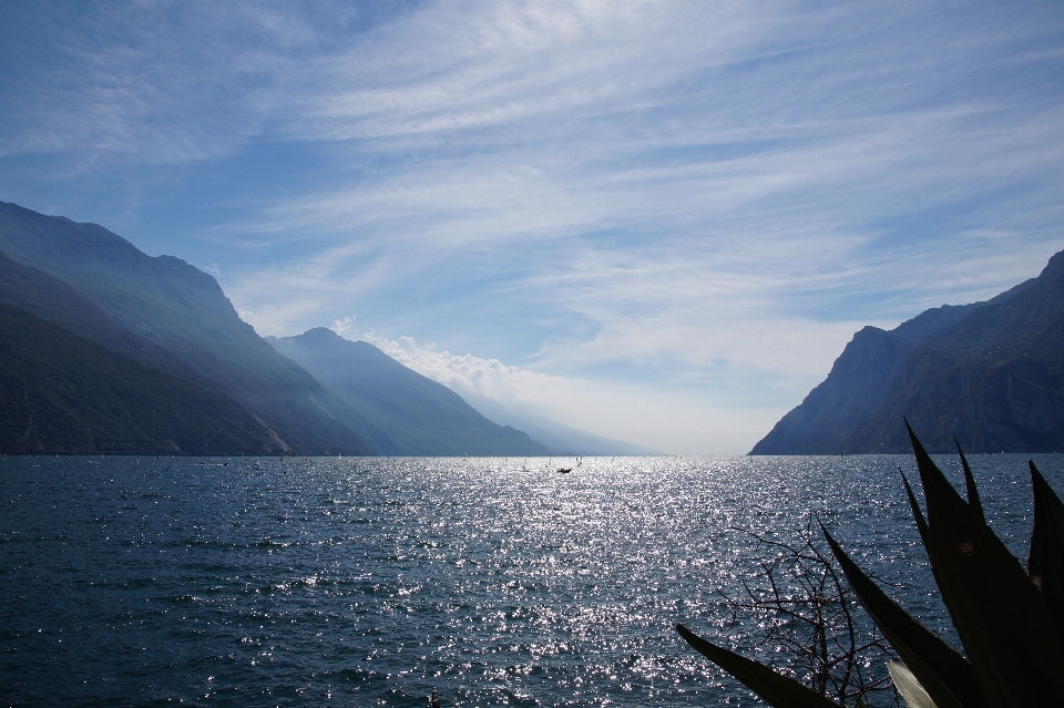
<path fill-rule="evenodd" d="M 0 366 L 3 453 L 549 453 L 369 343 L 267 341 L 187 263 L 2 202 Z"/>

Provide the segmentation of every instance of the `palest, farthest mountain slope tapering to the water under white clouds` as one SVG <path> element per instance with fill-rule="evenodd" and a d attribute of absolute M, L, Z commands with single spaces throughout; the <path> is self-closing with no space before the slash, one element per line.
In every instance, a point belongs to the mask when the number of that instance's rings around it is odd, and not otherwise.
<path fill-rule="evenodd" d="M 631 442 L 603 438 L 594 433 L 570 428 L 562 423 L 536 415 L 516 412 L 482 396 L 469 396 L 466 400 L 480 411 L 484 418 L 500 425 L 512 425 L 529 433 L 532 440 L 542 443 L 556 455 L 597 455 L 597 456 L 657 456 L 664 454 L 651 448 Z"/>

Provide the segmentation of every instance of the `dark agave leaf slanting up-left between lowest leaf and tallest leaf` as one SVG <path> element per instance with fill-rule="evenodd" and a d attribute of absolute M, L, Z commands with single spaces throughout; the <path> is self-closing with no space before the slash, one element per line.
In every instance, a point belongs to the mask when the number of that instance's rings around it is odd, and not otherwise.
<path fill-rule="evenodd" d="M 938 708 L 989 708 L 971 664 L 887 596 L 823 526 L 850 588 Z"/>

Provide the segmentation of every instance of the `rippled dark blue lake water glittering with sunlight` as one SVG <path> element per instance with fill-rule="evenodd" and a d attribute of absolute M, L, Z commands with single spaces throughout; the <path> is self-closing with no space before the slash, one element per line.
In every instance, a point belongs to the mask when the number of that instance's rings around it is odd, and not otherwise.
<path fill-rule="evenodd" d="M 1064 456 L 1035 461 L 1064 490 Z M 1026 456 L 972 463 L 1025 558 Z M 733 527 L 792 538 L 816 512 L 948 634 L 899 465 L 4 458 L 0 700 L 758 705 L 673 629 L 741 646 L 716 589 L 763 551 Z"/>

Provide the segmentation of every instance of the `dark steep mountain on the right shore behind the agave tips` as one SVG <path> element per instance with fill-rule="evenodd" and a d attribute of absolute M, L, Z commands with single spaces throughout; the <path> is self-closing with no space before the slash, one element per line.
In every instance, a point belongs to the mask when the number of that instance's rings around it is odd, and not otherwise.
<path fill-rule="evenodd" d="M 751 454 L 1064 451 L 1064 252 L 986 302 L 853 336 L 828 378 Z"/>

